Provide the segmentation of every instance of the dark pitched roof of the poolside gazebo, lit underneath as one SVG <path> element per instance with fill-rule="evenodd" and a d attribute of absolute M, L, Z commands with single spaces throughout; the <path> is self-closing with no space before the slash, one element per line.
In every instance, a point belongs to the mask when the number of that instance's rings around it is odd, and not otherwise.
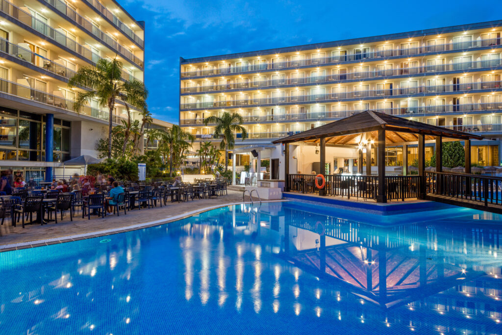
<path fill-rule="evenodd" d="M 324 137 L 326 144 L 357 145 L 363 139 L 376 141 L 378 130 L 382 128 L 386 131 L 386 144 L 416 142 L 419 134 L 425 135 L 425 140 L 434 140 L 436 136 L 458 140 L 483 139 L 478 135 L 366 110 L 327 125 L 273 141 L 273 143 L 319 142 L 319 139 Z"/>

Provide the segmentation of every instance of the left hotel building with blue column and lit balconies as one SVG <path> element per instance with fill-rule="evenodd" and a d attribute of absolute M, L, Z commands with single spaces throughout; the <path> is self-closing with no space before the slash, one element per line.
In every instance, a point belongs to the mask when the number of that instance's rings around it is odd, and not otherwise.
<path fill-rule="evenodd" d="M 97 157 L 108 108 L 91 101 L 75 113 L 76 92 L 86 88 L 69 89 L 68 79 L 117 57 L 122 78 L 143 81 L 144 22 L 114 0 L 5 0 L 0 16 L 0 169 L 44 178 L 67 159 Z M 127 118 L 119 101 L 113 114 L 114 125 Z"/>

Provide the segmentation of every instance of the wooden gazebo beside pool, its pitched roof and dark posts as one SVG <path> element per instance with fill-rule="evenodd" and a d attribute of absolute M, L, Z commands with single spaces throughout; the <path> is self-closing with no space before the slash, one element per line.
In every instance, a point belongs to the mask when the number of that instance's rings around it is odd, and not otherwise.
<path fill-rule="evenodd" d="M 470 140 L 481 140 L 481 136 L 432 126 L 371 110 L 366 110 L 324 126 L 276 140 L 273 143 L 282 143 L 285 145 L 286 190 L 288 190 L 289 144 L 297 142 L 318 144 L 320 146 L 320 166 L 324 166 L 326 163 L 327 146 L 355 146 L 359 149 L 360 162 L 362 162 L 363 158 L 362 149 L 366 147 L 366 175 L 371 175 L 371 154 L 368 149 L 371 146 L 378 148 L 378 158 L 376 161 L 376 165 L 378 165 L 378 192 L 376 192 L 377 195 L 375 198 L 378 202 L 387 202 L 385 182 L 386 146 L 403 146 L 403 152 L 407 152 L 408 145 L 418 143 L 418 170 L 419 176 L 423 179 L 420 192 L 424 195 L 425 143 L 435 141 L 436 157 L 441 157 L 442 142 L 444 139 L 446 141 L 465 141 L 465 162 L 466 166 L 470 167 Z M 403 166 L 408 166 L 407 160 L 407 155 L 403 155 Z M 469 168 L 466 170 L 469 170 Z M 441 171 L 442 160 L 436 159 L 436 172 Z M 362 164 L 358 164 L 358 172 L 362 174 Z M 406 171 L 403 172 L 406 174 Z M 470 173 L 470 171 L 466 171 L 466 173 Z M 321 174 L 323 173 L 321 172 Z M 319 195 L 325 195 L 325 190 L 319 190 Z"/>

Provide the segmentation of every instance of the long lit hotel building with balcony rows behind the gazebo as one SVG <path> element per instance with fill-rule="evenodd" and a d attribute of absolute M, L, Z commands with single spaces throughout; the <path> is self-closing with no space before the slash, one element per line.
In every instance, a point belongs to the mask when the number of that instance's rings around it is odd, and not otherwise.
<path fill-rule="evenodd" d="M 249 133 L 242 142 L 235 134 L 236 146 L 248 147 L 370 109 L 482 135 L 472 162 L 500 165 L 501 32 L 493 21 L 181 58 L 180 125 L 217 143 L 204 119 L 235 112 Z M 387 150 L 387 164 L 399 165 L 402 149 Z M 408 148 L 409 162 L 416 150 Z"/>

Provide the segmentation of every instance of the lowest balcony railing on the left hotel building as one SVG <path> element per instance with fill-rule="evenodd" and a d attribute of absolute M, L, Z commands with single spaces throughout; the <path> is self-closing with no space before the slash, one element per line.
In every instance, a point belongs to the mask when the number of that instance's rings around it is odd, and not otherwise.
<path fill-rule="evenodd" d="M 49 94 L 47 92 L 36 90 L 32 87 L 20 85 L 18 83 L 0 79 L 0 92 L 21 97 L 23 99 L 37 101 L 50 106 L 63 108 L 69 111 L 73 111 L 73 100 L 66 99 L 62 96 L 57 96 Z M 86 115 L 91 118 L 108 121 L 109 113 L 108 111 L 99 110 L 98 108 L 93 108 L 90 106 L 84 106 L 79 114 Z M 122 118 L 113 115 L 113 122 L 120 124 Z"/>

